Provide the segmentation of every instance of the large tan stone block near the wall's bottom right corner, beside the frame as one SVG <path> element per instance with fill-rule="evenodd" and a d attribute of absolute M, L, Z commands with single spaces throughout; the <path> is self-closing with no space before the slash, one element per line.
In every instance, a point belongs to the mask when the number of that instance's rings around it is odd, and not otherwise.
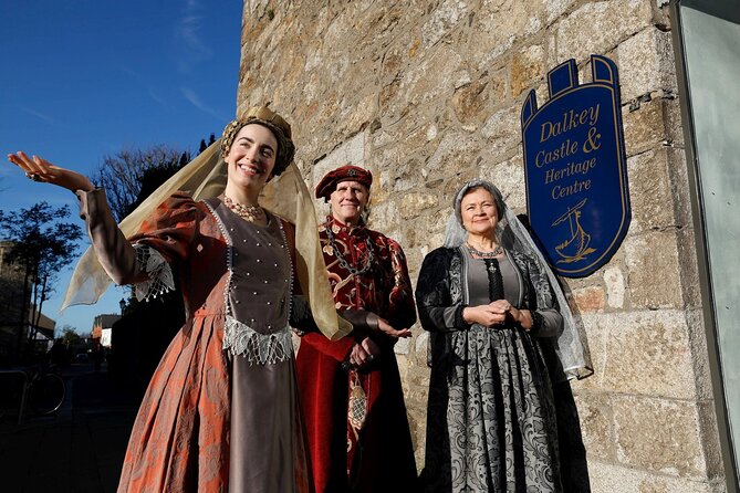
<path fill-rule="evenodd" d="M 613 406 L 622 464 L 670 476 L 707 479 L 696 403 L 619 396 Z"/>

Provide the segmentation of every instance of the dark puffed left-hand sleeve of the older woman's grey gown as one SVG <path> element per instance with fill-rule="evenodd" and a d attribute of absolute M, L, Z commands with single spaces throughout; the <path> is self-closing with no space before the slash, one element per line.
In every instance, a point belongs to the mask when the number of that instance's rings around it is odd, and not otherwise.
<path fill-rule="evenodd" d="M 451 260 L 454 250 L 437 249 L 429 253 L 421 264 L 416 283 L 416 305 L 419 310 L 421 327 L 429 332 L 466 331 L 469 325 L 462 319 L 466 305 L 454 296 Z M 459 285 L 457 287 L 459 290 Z"/>

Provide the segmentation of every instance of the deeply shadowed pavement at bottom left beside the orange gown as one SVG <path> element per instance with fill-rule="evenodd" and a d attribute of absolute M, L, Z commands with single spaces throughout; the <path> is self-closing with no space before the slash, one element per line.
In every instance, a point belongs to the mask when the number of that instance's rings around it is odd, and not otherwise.
<path fill-rule="evenodd" d="M 75 364 L 62 378 L 55 416 L 0 418 L 0 491 L 115 492 L 138 398 L 108 378 L 105 364 Z"/>

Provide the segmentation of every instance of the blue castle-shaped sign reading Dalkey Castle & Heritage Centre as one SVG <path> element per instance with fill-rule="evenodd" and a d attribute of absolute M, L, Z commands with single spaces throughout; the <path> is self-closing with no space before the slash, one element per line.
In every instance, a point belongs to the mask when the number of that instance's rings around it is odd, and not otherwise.
<path fill-rule="evenodd" d="M 574 60 L 548 74 L 550 101 L 531 91 L 522 107 L 527 209 L 556 274 L 584 277 L 622 244 L 630 219 L 619 78 L 591 55 L 593 82 L 579 85 Z"/>

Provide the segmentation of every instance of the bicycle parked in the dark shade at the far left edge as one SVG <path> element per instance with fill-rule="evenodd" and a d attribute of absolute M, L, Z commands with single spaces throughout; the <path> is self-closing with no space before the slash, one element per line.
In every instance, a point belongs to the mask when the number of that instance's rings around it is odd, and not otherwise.
<path fill-rule="evenodd" d="M 18 424 L 31 411 L 34 416 L 49 416 L 64 402 L 66 386 L 62 377 L 39 366 L 31 369 L 0 370 L 2 385 L 0 417 L 18 413 Z M 4 408 L 4 409 L 3 409 Z"/>

